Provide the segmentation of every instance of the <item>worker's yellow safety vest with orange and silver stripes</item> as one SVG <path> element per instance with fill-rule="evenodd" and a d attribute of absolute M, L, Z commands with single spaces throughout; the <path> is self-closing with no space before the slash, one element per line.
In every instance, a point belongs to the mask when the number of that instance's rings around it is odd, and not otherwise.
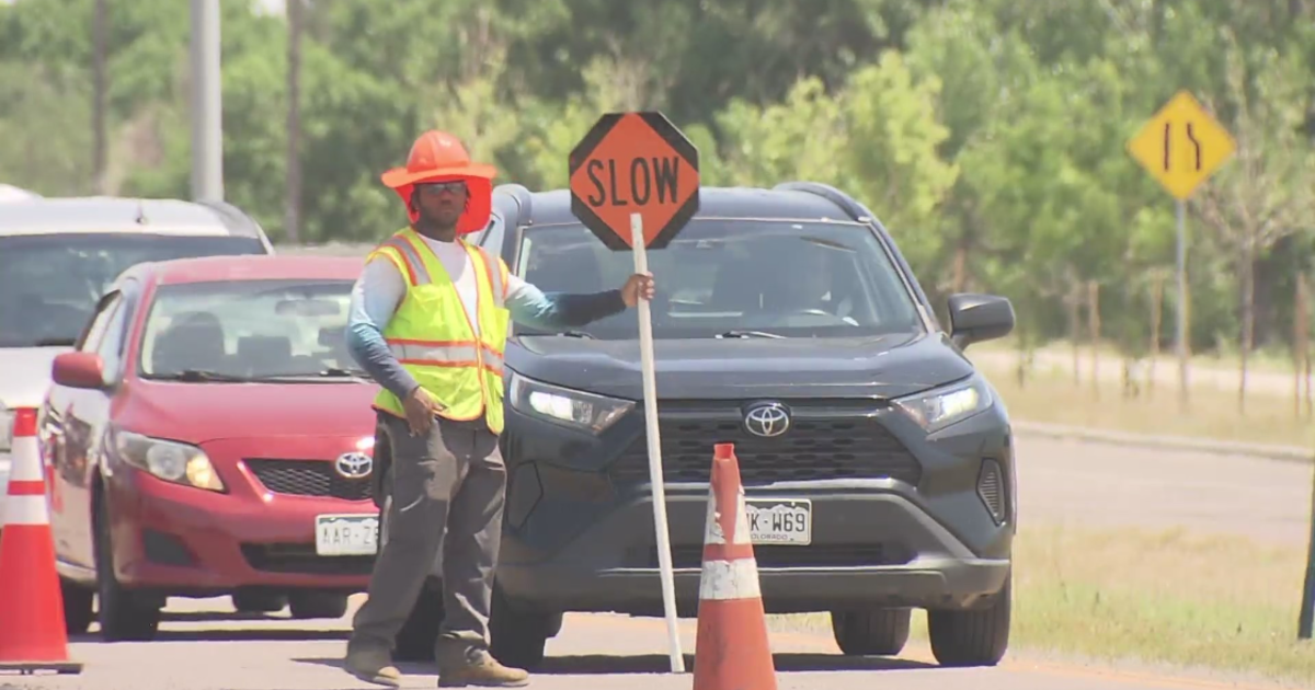
<path fill-rule="evenodd" d="M 406 279 L 406 296 L 384 329 L 384 339 L 402 368 L 446 406 L 448 419 L 484 415 L 494 434 L 502 432 L 502 348 L 506 344 L 506 263 L 460 238 L 471 256 L 477 290 L 479 335 L 471 325 L 456 284 L 438 256 L 410 227 L 404 227 L 366 258 L 384 256 Z M 496 267 L 494 267 L 496 262 Z M 405 417 L 402 403 L 388 389 L 375 397 L 376 410 Z"/>

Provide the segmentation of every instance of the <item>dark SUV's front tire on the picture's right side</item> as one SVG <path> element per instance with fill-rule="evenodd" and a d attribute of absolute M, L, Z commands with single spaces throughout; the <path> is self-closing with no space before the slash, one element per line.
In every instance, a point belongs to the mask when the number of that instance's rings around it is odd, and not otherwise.
<path fill-rule="evenodd" d="M 927 611 L 931 653 L 943 666 L 994 666 L 1009 648 L 1013 576 L 980 611 Z"/>

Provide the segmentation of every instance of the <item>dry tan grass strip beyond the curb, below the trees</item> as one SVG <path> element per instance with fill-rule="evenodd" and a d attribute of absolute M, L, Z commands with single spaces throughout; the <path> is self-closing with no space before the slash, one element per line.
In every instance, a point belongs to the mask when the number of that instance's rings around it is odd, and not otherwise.
<path fill-rule="evenodd" d="M 1036 368 L 1019 385 L 1015 371 L 998 359 L 984 359 L 980 367 L 1003 397 L 1010 415 L 1019 421 L 1315 448 L 1315 423 L 1297 417 L 1290 392 L 1251 393 L 1240 414 L 1236 392 L 1201 385 L 1190 389 L 1189 409 L 1182 411 L 1173 384 L 1161 382 L 1149 393 L 1128 398 L 1118 379 L 1102 380 L 1099 390 L 1093 392 L 1090 380 L 1074 384 L 1070 369 Z M 1118 375 L 1115 360 L 1102 367 L 1111 376 Z M 1172 364 L 1160 367 L 1169 369 Z"/>

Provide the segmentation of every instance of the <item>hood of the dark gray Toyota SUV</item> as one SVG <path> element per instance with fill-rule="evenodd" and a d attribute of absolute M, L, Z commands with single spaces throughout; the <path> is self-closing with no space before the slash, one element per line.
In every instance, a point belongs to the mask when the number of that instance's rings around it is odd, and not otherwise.
<path fill-rule="evenodd" d="M 518 336 L 508 365 L 540 381 L 643 400 L 639 340 Z M 654 342 L 658 397 L 892 398 L 963 379 L 972 364 L 940 334 L 701 338 Z"/>

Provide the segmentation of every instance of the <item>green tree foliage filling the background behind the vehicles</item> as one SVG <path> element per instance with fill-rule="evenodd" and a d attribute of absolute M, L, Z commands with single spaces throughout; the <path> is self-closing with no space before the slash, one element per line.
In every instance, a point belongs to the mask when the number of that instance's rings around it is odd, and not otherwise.
<path fill-rule="evenodd" d="M 96 0 L 0 5 L 0 181 L 187 197 L 188 4 L 103 1 L 101 176 Z M 423 129 L 546 188 L 565 184 L 598 114 L 656 108 L 694 139 L 709 184 L 839 185 L 935 300 L 1007 294 L 1035 342 L 1064 335 L 1065 300 L 1097 281 L 1107 333 L 1135 352 L 1149 283 L 1174 263 L 1174 216 L 1124 146 L 1190 89 L 1239 142 L 1189 204 L 1193 350 L 1290 336 L 1315 244 L 1315 1 L 304 3 L 305 242 L 404 222 L 379 175 Z M 224 168 L 229 200 L 279 238 L 288 30 L 267 5 L 222 0 Z"/>

